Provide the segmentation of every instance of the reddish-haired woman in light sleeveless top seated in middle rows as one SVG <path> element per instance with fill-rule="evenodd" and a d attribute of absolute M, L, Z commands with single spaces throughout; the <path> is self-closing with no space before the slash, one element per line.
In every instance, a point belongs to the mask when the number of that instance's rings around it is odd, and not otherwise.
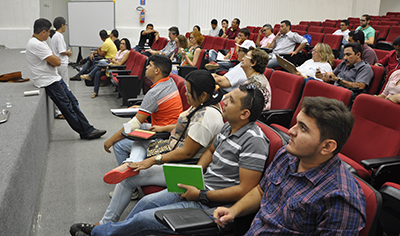
<path fill-rule="evenodd" d="M 189 35 L 190 46 L 188 48 L 188 53 L 183 49 L 179 50 L 182 55 L 181 66 L 196 66 L 197 61 L 200 59 L 201 44 L 203 43 L 204 37 L 198 30 L 194 30 Z"/>

